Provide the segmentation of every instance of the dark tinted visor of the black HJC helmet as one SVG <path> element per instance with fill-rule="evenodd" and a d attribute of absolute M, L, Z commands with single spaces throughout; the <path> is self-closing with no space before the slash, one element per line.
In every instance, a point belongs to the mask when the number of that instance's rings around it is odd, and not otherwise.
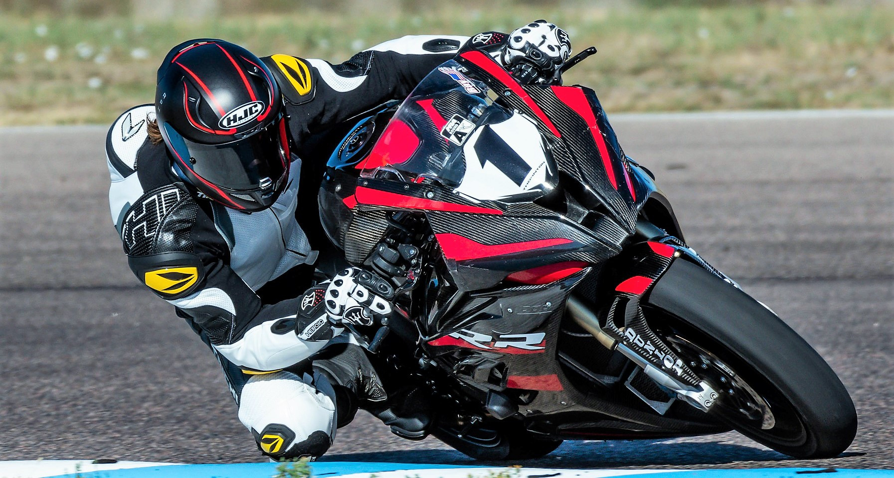
<path fill-rule="evenodd" d="M 190 156 L 190 169 L 220 188 L 270 189 L 283 177 L 289 161 L 289 135 L 285 117 L 248 138 L 221 145 L 204 145 L 182 138 Z"/>

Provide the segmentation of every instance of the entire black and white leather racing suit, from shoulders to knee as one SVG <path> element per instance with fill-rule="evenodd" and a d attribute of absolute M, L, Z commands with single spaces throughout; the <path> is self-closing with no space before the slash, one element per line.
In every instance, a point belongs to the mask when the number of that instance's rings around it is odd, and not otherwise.
<path fill-rule="evenodd" d="M 301 151 L 315 133 L 408 96 L 467 39 L 408 36 L 336 65 L 291 55 L 262 61 L 283 91 L 288 125 Z M 135 106 L 114 122 L 105 141 L 110 212 L 131 270 L 176 307 L 214 351 L 240 421 L 264 454 L 319 457 L 331 445 L 336 425 L 352 416 L 336 413 L 341 404 L 332 382 L 345 385 L 341 377 L 351 371 L 363 375 L 358 366 L 363 369 L 368 360 L 356 346 L 348 348 L 352 339 L 339 335 L 341 329 L 314 325 L 308 333 L 296 332 L 310 327 L 308 319 L 325 293 L 317 287 L 302 294 L 313 275 L 316 245 L 300 222 L 318 212 L 316 201 L 299 200 L 299 185 L 316 188 L 318 182 L 302 178 L 309 164 L 293 155 L 288 185 L 272 207 L 251 214 L 229 209 L 202 197 L 173 172 L 164 143 L 148 139 L 147 125 L 154 118 L 154 105 Z M 316 197 L 312 192 L 308 197 Z M 316 364 L 320 355 L 315 354 L 324 348 L 347 351 L 329 353 L 338 359 L 321 359 L 320 367 L 308 366 L 308 358 Z M 384 393 L 375 384 L 359 389 L 371 400 Z"/>

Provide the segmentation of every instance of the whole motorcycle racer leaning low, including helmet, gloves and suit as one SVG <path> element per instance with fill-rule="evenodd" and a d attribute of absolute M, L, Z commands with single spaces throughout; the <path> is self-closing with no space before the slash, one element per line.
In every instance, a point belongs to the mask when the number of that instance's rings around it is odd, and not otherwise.
<path fill-rule="evenodd" d="M 550 25 L 476 38 L 519 78 L 545 82 L 570 51 Z M 316 251 L 300 222 L 317 212 L 299 201 L 313 178 L 297 153 L 314 134 L 407 96 L 467 40 L 403 37 L 336 65 L 190 40 L 159 67 L 155 104 L 122 113 L 108 132 L 110 212 L 131 271 L 215 353 L 268 457 L 323 455 L 358 405 L 405 438 L 426 436 L 424 407 L 389 397 L 342 333 L 391 312 L 388 282 L 349 268 L 307 289 Z"/>

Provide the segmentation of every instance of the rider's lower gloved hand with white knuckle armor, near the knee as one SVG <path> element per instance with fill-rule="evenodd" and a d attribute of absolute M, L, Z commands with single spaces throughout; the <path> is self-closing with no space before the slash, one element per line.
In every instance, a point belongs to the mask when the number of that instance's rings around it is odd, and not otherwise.
<path fill-rule="evenodd" d="M 381 277 L 350 267 L 333 277 L 326 288 L 326 314 L 334 323 L 372 325 L 392 313 L 394 288 Z"/>

